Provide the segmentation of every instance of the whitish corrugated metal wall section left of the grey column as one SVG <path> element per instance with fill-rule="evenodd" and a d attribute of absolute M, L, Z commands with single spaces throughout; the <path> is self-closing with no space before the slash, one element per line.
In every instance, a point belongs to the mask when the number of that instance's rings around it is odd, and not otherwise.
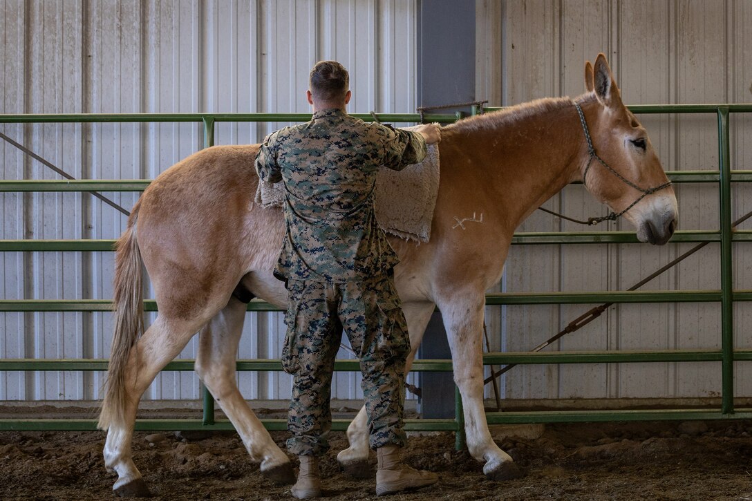
<path fill-rule="evenodd" d="M 308 71 L 350 70 L 350 111 L 414 110 L 416 3 L 401 0 L 162 0 L 0 4 L 0 113 L 310 111 Z M 217 144 L 256 143 L 287 125 L 220 123 Z M 190 123 L 2 126 L 76 178 L 154 178 L 202 147 Z M 2 177 L 54 179 L 0 144 Z M 125 208 L 138 194 L 106 193 Z M 117 238 L 126 217 L 77 193 L 0 194 L 0 238 Z M 111 253 L 0 253 L 5 299 L 109 299 Z M 111 314 L 0 313 L 0 358 L 108 357 Z M 280 314 L 248 314 L 240 357 L 278 358 Z M 339 355 L 346 358 L 347 353 Z M 195 357 L 189 345 L 181 357 Z M 284 373 L 244 373 L 248 399 L 288 398 Z M 0 372 L 0 399 L 94 399 L 101 374 Z M 359 378 L 335 379 L 359 399 Z M 193 373 L 166 372 L 146 398 L 199 396 Z"/>

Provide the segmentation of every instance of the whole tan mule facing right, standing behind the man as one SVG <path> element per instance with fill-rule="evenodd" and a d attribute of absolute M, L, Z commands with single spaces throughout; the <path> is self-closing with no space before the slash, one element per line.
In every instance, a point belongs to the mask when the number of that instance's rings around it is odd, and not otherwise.
<path fill-rule="evenodd" d="M 676 226 L 672 187 L 647 133 L 621 102 L 602 54 L 594 68 L 587 64 L 586 86 L 589 92 L 575 100 L 544 99 L 445 127 L 431 240 L 390 239 L 401 259 L 396 287 L 413 355 L 438 306 L 462 394 L 468 451 L 497 480 L 520 473 L 488 430 L 481 339 L 485 291 L 502 276 L 514 229 L 572 181 L 584 181 L 596 199 L 623 212 L 641 241 L 665 244 Z M 603 165 L 590 154 L 585 131 Z M 120 238 L 117 323 L 99 421 L 108 430 L 105 464 L 117 472 L 117 493 L 148 493 L 131 455 L 138 401 L 197 331 L 196 371 L 250 456 L 265 475 L 294 481 L 289 458 L 235 383 L 245 316 L 244 303 L 232 296 L 235 287 L 280 307 L 287 302 L 287 291 L 271 275 L 284 235 L 282 213 L 253 202 L 257 151 L 255 145 L 211 147 L 178 162 L 144 191 Z M 141 263 L 159 305 L 143 336 Z M 369 474 L 364 409 L 347 437 L 350 447 L 338 454 L 339 462 Z"/>

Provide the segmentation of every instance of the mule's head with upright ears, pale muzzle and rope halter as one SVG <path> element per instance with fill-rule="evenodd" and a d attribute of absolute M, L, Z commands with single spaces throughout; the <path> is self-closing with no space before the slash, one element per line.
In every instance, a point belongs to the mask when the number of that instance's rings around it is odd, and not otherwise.
<path fill-rule="evenodd" d="M 596 98 L 587 106 L 593 148 L 608 165 L 597 158 L 583 165 L 585 186 L 616 214 L 625 211 L 640 241 L 663 245 L 676 229 L 676 196 L 671 186 L 663 187 L 669 179 L 644 127 L 623 105 L 603 54 L 594 66 L 586 63 L 585 86 Z"/>

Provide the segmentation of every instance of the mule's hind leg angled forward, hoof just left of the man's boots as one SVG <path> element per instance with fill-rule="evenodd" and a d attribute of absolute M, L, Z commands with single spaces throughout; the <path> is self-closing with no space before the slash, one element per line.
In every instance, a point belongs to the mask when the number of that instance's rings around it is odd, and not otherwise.
<path fill-rule="evenodd" d="M 253 414 L 235 382 L 235 356 L 245 310 L 243 302 L 231 298 L 229 304 L 202 329 L 196 372 L 238 430 L 250 457 L 261 463 L 261 472 L 271 480 L 292 484 L 295 474 L 290 459 Z"/>

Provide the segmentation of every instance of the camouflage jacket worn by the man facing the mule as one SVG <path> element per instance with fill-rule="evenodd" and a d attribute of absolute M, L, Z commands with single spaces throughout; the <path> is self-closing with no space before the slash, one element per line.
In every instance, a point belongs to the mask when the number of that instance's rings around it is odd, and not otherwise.
<path fill-rule="evenodd" d="M 402 170 L 425 156 L 420 134 L 365 123 L 336 108 L 268 135 L 256 172 L 264 181 L 283 181 L 286 199 L 274 275 L 345 282 L 393 268 L 399 259 L 374 214 L 376 172 Z"/>

